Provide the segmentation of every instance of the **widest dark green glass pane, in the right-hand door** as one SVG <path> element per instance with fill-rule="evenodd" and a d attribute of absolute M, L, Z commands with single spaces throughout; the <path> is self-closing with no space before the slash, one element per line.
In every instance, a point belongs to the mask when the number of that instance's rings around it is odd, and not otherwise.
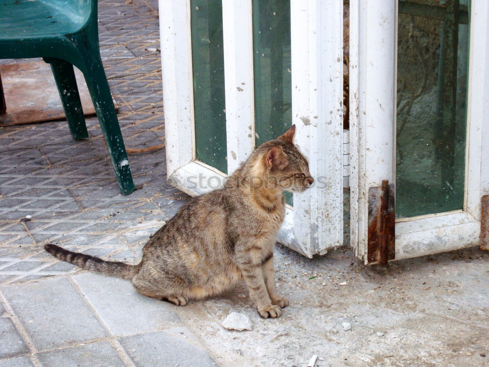
<path fill-rule="evenodd" d="M 396 216 L 462 209 L 469 9 L 399 1 Z"/>

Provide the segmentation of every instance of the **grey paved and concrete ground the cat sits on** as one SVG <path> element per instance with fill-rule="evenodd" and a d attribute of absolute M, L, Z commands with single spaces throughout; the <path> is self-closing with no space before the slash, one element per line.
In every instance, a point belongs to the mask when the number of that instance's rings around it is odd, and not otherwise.
<path fill-rule="evenodd" d="M 164 142 L 156 6 L 99 5 L 130 148 Z M 58 262 L 44 243 L 135 263 L 188 198 L 164 185 L 164 150 L 130 155 L 144 186 L 121 196 L 98 121 L 87 124 L 84 141 L 65 121 L 0 128 L 0 367 L 302 367 L 312 354 L 323 367 L 489 366 L 489 253 L 476 248 L 380 268 L 347 247 L 310 260 L 279 245 L 277 285 L 290 306 L 275 320 L 258 316 L 244 285 L 178 307 Z M 224 329 L 232 311 L 253 330 Z"/>

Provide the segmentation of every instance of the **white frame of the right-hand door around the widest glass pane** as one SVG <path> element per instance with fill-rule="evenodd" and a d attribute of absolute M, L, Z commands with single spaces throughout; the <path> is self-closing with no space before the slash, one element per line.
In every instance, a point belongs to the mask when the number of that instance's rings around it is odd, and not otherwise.
<path fill-rule="evenodd" d="M 351 244 L 367 253 L 368 189 L 395 181 L 397 1 L 350 1 Z M 479 243 L 481 196 L 489 192 L 489 3 L 472 1 L 463 210 L 396 221 L 396 260 Z"/>

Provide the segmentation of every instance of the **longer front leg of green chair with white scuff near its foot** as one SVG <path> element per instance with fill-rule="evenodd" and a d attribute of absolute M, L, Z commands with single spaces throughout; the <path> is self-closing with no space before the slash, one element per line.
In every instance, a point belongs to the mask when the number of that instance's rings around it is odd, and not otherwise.
<path fill-rule="evenodd" d="M 133 177 L 127 160 L 126 148 L 122 139 L 121 129 L 117 115 L 115 114 L 114 103 L 112 101 L 111 90 L 104 66 L 100 57 L 86 57 L 85 80 L 89 88 L 90 96 L 97 112 L 97 117 L 105 137 L 105 143 L 111 155 L 115 176 L 119 183 L 121 193 L 128 195 L 134 191 Z"/>

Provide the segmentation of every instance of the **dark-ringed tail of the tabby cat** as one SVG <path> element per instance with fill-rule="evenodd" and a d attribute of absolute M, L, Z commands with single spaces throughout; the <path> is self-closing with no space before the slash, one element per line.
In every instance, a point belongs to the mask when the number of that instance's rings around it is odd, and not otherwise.
<path fill-rule="evenodd" d="M 105 261 L 85 253 L 68 251 L 53 244 L 44 245 L 44 250 L 58 259 L 77 265 L 80 268 L 127 280 L 131 280 L 139 270 L 138 265 L 129 265 L 119 261 Z"/>

